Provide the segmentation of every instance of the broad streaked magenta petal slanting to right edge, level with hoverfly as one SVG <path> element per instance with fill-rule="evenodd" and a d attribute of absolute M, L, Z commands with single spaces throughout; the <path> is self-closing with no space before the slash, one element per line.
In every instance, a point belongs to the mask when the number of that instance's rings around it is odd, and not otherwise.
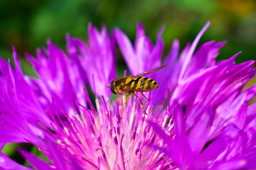
<path fill-rule="evenodd" d="M 200 101 L 207 103 L 211 101 L 211 103 L 218 104 L 225 101 L 230 94 L 239 92 L 246 82 L 241 80 L 245 78 L 249 80 L 255 73 L 250 73 L 250 71 L 252 71 L 251 63 L 237 64 L 234 66 L 233 62 L 235 57 L 236 55 L 225 62 L 221 62 L 218 66 L 198 71 L 196 74 L 193 74 L 193 76 L 189 76 L 180 81 L 179 86 L 173 92 L 172 98 L 179 98 L 178 102 L 180 104 L 191 103 L 195 97 L 195 103 Z M 237 73 L 237 69 L 239 73 Z M 238 75 L 230 76 L 231 74 Z M 225 78 L 225 81 L 221 81 L 222 78 Z M 235 81 L 235 79 L 237 82 L 236 86 L 230 84 Z M 218 81 L 220 81 L 220 83 L 216 83 Z M 211 95 L 207 96 L 205 94 Z"/>

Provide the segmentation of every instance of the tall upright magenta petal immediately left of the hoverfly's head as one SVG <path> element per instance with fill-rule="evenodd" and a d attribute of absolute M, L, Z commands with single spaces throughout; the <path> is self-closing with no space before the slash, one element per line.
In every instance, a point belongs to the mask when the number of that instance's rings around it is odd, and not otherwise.
<path fill-rule="evenodd" d="M 67 38 L 68 52 L 83 81 L 90 85 L 95 95 L 109 100 L 111 91 L 106 87 L 116 78 L 115 39 L 109 38 L 106 26 L 99 32 L 90 24 L 88 35 L 90 46 L 79 39 Z"/>

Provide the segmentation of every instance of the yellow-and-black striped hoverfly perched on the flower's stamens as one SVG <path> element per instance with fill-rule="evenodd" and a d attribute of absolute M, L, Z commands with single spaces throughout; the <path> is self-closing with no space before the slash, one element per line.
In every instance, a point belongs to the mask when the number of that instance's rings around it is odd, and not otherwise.
<path fill-rule="evenodd" d="M 122 96 L 118 99 L 118 101 L 125 94 L 129 93 L 125 100 L 125 103 L 127 103 L 131 93 L 140 99 L 140 97 L 137 94 L 135 94 L 134 92 L 141 92 L 143 97 L 145 97 L 143 92 L 155 90 L 159 86 L 155 80 L 153 80 L 151 78 L 145 78 L 143 76 L 155 73 L 156 71 L 159 71 L 160 69 L 163 69 L 166 66 L 167 65 L 159 66 L 154 69 L 150 69 L 149 71 L 137 74 L 136 76 L 125 76 L 122 78 L 116 78 L 115 80 L 113 80 L 110 83 L 111 92 L 113 92 L 114 94 L 122 94 Z M 147 97 L 145 97 L 145 98 L 147 99 Z M 125 105 L 125 103 L 124 103 L 124 105 Z M 146 113 L 144 104 L 142 103 L 141 99 L 140 99 L 140 103 L 143 106 L 143 109 Z"/>

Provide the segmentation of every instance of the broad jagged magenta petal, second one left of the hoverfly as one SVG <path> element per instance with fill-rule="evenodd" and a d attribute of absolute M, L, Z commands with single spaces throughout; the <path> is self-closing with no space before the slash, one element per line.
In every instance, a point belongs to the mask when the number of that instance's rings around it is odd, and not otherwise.
<path fill-rule="evenodd" d="M 64 105 L 67 109 L 73 107 L 72 102 L 86 104 L 83 96 L 84 84 L 79 76 L 79 68 L 51 41 L 47 41 L 47 45 L 47 49 L 37 50 L 37 59 L 26 55 L 40 76 L 40 80 L 26 79 L 36 92 L 36 97 L 39 97 L 38 101 L 44 109 L 51 104 L 52 96 L 61 97 L 65 101 Z M 69 114 L 75 113 L 70 112 Z"/>

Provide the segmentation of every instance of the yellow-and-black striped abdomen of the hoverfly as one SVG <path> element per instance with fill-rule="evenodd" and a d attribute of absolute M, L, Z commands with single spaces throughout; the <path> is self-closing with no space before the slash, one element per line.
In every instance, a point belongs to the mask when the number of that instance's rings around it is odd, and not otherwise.
<path fill-rule="evenodd" d="M 157 82 L 151 78 L 138 77 L 131 80 L 127 78 L 127 81 L 125 83 L 129 85 L 129 89 L 135 92 L 147 92 L 158 88 Z"/>

